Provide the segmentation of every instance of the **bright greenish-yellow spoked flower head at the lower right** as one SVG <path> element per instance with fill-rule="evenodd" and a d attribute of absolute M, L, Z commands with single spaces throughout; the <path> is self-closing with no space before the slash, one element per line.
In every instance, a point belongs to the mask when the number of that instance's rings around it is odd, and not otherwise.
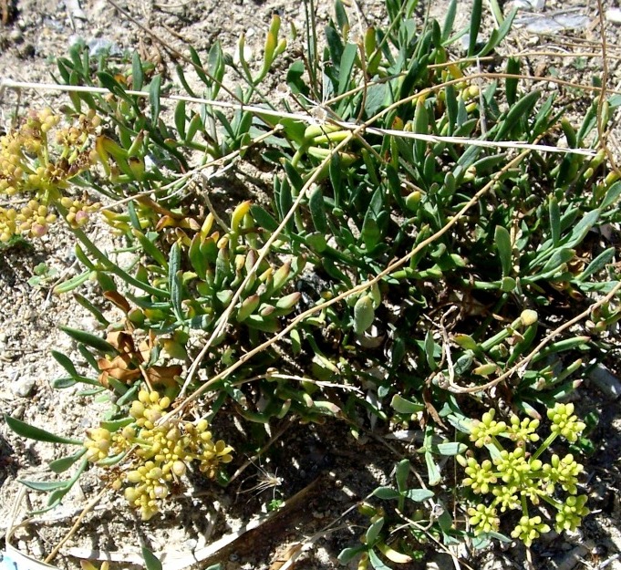
<path fill-rule="evenodd" d="M 471 441 L 476 447 L 490 451 L 490 459 L 481 462 L 473 456 L 458 458 L 466 472 L 463 484 L 481 497 L 480 503 L 468 510 L 474 534 L 498 532 L 500 513 L 521 510 L 523 516 L 512 537 L 530 546 L 551 528 L 540 514 L 529 513 L 529 505 L 543 501 L 552 506 L 556 511 L 554 528 L 559 533 L 574 531 L 589 513 L 586 496 L 576 496 L 578 477 L 584 467 L 574 456 L 569 453 L 560 457 L 554 453 L 548 463 L 539 459 L 557 437 L 576 441 L 585 423 L 574 415 L 573 404 L 556 404 L 547 415 L 552 422 L 552 433 L 533 453 L 529 453 L 529 446 L 540 439 L 536 433 L 539 420 L 512 416 L 509 423 L 497 421 L 492 409 L 473 423 Z M 512 451 L 504 449 L 501 437 L 514 442 Z"/>

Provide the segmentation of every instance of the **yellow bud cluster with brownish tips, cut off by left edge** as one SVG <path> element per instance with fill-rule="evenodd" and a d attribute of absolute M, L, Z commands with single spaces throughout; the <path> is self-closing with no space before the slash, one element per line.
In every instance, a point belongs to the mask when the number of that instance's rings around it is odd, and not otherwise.
<path fill-rule="evenodd" d="M 93 110 L 65 128 L 60 119 L 51 109 L 32 110 L 18 130 L 0 137 L 0 196 L 17 204 L 0 208 L 0 242 L 15 235 L 44 235 L 57 220 L 58 204 L 68 211 L 73 227 L 84 225 L 88 213 L 98 208 L 69 199 L 63 191 L 94 162 L 92 139 L 100 119 Z"/>

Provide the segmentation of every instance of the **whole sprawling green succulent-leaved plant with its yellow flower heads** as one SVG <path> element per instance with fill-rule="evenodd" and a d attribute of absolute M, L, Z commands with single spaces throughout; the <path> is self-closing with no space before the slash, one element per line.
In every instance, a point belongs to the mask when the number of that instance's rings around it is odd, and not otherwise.
<path fill-rule="evenodd" d="M 35 112 L 3 138 L 0 192 L 26 210 L 0 211 L 0 229 L 10 244 L 67 221 L 81 267 L 54 290 L 105 331 L 63 327 L 79 356 L 54 353 L 66 372 L 54 386 L 108 410 L 79 439 L 6 419 L 76 446 L 51 464 L 68 479 L 25 482 L 50 492 L 49 507 L 95 465 L 157 524 L 189 475 L 226 485 L 238 466 L 239 445 L 219 433 L 226 412 L 253 451 L 284 419 L 345 423 L 359 441 L 419 430 L 395 485 L 360 507 L 371 522 L 343 562 L 384 568 L 436 542 L 505 539 L 512 512 L 528 545 L 585 516 L 582 468 L 556 444 L 584 427 L 564 402 L 620 316 L 618 252 L 597 230 L 620 219 L 601 136 L 621 99 L 589 102 L 574 122 L 519 58 L 500 59 L 502 73 L 477 67 L 514 12 L 480 44 L 481 2 L 468 30 L 453 29 L 457 2 L 442 24 L 417 20 L 416 4 L 386 0 L 386 26 L 357 35 L 336 1 L 320 44 L 306 2 L 306 57 L 287 51 L 299 37 L 274 16 L 261 61 L 246 60 L 243 38 L 235 57 L 189 47 L 171 81 L 137 54 L 77 45 L 57 59 L 67 118 Z M 264 96 L 276 62 L 278 100 Z M 85 231 L 95 210 L 117 249 Z M 80 293 L 87 282 L 95 298 Z M 514 415 L 471 421 L 492 390 Z M 552 434 L 535 447 L 546 414 Z M 470 497 L 455 492 L 453 456 Z"/>

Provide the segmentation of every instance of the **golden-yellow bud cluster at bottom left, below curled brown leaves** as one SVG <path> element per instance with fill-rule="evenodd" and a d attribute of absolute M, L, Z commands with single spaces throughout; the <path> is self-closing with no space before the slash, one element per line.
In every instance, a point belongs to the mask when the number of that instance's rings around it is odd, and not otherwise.
<path fill-rule="evenodd" d="M 192 462 L 213 478 L 221 463 L 233 459 L 233 448 L 223 440 L 213 440 L 207 420 L 160 425 L 159 420 L 170 406 L 167 396 L 140 390 L 129 409 L 135 422 L 113 433 L 105 428 L 88 430 L 84 443 L 88 461 L 95 463 L 114 456 L 120 456 L 120 461 L 133 450 L 129 466 L 112 486 L 120 489 L 125 485 L 125 498 L 140 511 L 144 521 L 158 513 L 161 501 L 171 492 L 171 483 L 180 482 Z"/>

